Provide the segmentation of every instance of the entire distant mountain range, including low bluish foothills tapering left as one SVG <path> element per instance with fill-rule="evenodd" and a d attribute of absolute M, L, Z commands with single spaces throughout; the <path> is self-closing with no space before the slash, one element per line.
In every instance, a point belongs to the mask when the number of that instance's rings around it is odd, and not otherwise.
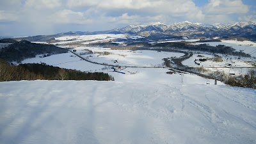
<path fill-rule="evenodd" d="M 188 21 L 179 22 L 176 24 L 162 24 L 156 22 L 154 24 L 126 26 L 125 28 L 112 29 L 109 31 L 70 31 L 67 33 L 59 33 L 51 36 L 31 36 L 26 38 L 29 41 L 47 41 L 63 35 L 90 35 L 90 34 L 128 34 L 141 36 L 187 36 L 188 38 L 196 37 L 244 37 L 256 41 L 256 22 L 234 22 L 232 24 L 202 24 L 192 23 Z"/>

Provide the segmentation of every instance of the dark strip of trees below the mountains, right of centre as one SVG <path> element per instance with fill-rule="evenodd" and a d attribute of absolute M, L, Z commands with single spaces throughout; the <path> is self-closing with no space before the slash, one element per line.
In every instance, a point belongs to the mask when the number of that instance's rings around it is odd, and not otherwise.
<path fill-rule="evenodd" d="M 160 43 L 160 44 L 153 45 L 153 47 L 162 47 L 163 49 L 176 48 L 180 50 L 184 49 L 189 51 L 211 52 L 213 54 L 219 53 L 219 54 L 230 54 L 233 56 L 250 57 L 250 54 L 246 54 L 241 51 L 236 51 L 236 49 L 225 46 L 225 45 L 217 45 L 216 47 L 213 47 L 207 44 L 191 45 L 191 44 L 186 44 L 184 42 L 167 42 L 167 43 Z"/>

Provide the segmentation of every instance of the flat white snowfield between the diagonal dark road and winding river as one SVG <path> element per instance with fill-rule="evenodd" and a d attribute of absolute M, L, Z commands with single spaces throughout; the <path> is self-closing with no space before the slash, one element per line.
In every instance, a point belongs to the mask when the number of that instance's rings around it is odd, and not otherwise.
<path fill-rule="evenodd" d="M 108 63 L 111 65 L 126 65 L 126 66 L 162 66 L 163 58 L 172 56 L 183 56 L 183 53 L 177 52 L 157 52 L 157 51 L 126 51 L 126 50 L 111 50 L 100 47 L 77 47 L 76 49 L 89 49 L 93 52 L 110 52 L 109 55 L 92 54 L 93 57 L 88 57 L 88 60 L 98 63 Z M 114 61 L 118 63 L 114 63 Z"/>

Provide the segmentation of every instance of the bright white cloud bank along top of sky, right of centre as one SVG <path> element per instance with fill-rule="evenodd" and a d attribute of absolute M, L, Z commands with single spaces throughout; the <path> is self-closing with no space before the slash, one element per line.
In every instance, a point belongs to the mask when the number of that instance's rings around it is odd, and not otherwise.
<path fill-rule="evenodd" d="M 172 19 L 177 19 L 179 17 L 183 17 L 185 20 L 197 22 L 204 20 L 205 17 L 202 10 L 200 10 L 200 8 L 198 8 L 192 0 L 68 0 L 67 5 L 69 8 L 93 7 L 96 10 L 106 13 L 106 15 L 108 15 L 108 13 L 118 12 L 118 10 L 121 10 L 127 14 L 132 13 L 132 15 L 140 16 L 140 19 L 136 19 L 138 20 L 136 23 L 143 22 L 141 19 L 150 19 L 150 17 L 159 17 L 159 15 L 165 15 L 164 17 L 161 16 L 159 19 L 157 19 L 157 21 L 161 22 L 163 22 L 163 18 L 165 22 L 172 22 Z M 141 15 L 141 13 L 143 13 L 143 15 Z M 151 20 L 151 22 L 153 22 L 155 19 Z"/>

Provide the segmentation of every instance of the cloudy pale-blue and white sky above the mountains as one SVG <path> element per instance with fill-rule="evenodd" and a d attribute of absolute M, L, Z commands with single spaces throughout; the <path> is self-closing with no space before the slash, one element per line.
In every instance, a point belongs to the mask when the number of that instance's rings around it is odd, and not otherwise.
<path fill-rule="evenodd" d="M 1 0 L 0 36 L 102 31 L 130 24 L 256 21 L 255 0 Z"/>

